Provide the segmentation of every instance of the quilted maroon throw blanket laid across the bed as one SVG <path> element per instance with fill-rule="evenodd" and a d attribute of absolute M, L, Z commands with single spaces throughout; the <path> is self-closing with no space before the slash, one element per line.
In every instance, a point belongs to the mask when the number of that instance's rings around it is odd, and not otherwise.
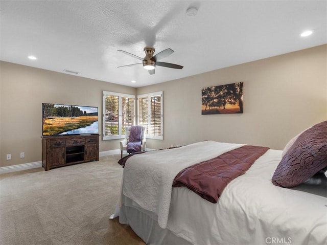
<path fill-rule="evenodd" d="M 269 148 L 245 145 L 180 171 L 173 187 L 185 186 L 211 203 L 217 203 L 222 191 L 248 170 Z"/>

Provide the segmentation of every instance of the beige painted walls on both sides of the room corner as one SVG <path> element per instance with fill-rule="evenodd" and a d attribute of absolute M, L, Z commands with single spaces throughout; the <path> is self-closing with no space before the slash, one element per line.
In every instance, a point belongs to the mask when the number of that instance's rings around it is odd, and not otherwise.
<path fill-rule="evenodd" d="M 283 149 L 290 138 L 327 120 L 326 45 L 151 86 L 132 88 L 28 66 L 0 63 L 0 166 L 41 161 L 42 103 L 98 106 L 102 91 L 164 92 L 164 148 L 202 140 Z M 201 115 L 201 89 L 244 82 L 244 113 Z M 102 120 L 99 120 L 102 131 Z M 119 148 L 100 141 L 100 151 Z M 25 152 L 25 159 L 19 158 Z M 6 160 L 6 154 L 12 160 Z"/>

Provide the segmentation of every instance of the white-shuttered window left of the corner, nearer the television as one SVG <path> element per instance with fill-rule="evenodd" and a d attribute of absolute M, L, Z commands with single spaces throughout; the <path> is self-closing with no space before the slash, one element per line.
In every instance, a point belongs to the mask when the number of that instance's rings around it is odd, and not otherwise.
<path fill-rule="evenodd" d="M 103 140 L 122 139 L 135 125 L 135 96 L 103 91 Z"/>

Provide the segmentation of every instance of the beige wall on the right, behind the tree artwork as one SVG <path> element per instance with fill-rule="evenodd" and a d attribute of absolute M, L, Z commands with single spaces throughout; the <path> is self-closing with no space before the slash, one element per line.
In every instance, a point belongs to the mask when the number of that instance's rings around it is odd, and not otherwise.
<path fill-rule="evenodd" d="M 244 113 L 201 115 L 201 89 L 244 82 Z M 283 149 L 298 132 L 327 120 L 326 45 L 141 87 L 164 92 L 163 148 L 202 140 Z"/>

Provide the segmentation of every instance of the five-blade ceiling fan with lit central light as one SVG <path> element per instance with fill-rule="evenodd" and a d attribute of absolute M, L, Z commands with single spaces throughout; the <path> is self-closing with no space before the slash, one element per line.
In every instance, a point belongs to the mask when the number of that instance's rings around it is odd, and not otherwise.
<path fill-rule="evenodd" d="M 128 65 L 122 65 L 122 66 L 118 66 L 118 68 L 120 67 L 126 67 L 126 66 L 132 66 L 132 65 L 138 65 L 138 64 L 143 64 L 143 67 L 148 70 L 150 75 L 153 75 L 155 73 L 154 69 L 155 66 L 164 66 L 164 67 L 168 67 L 168 68 L 174 68 L 174 69 L 182 69 L 183 66 L 178 65 L 178 64 L 172 64 L 172 63 L 166 63 L 166 62 L 160 62 L 158 60 L 167 57 L 168 55 L 171 55 L 172 53 L 174 53 L 174 50 L 172 49 L 165 49 L 163 51 L 161 51 L 160 53 L 157 53 L 155 56 L 155 49 L 152 47 L 145 47 L 144 48 L 144 53 L 146 54 L 146 56 L 144 58 L 138 57 L 134 54 L 128 53 L 124 50 L 118 50 L 124 54 L 127 54 L 129 56 L 132 56 L 136 59 L 142 60 L 142 63 L 135 63 L 135 64 L 128 64 Z"/>

